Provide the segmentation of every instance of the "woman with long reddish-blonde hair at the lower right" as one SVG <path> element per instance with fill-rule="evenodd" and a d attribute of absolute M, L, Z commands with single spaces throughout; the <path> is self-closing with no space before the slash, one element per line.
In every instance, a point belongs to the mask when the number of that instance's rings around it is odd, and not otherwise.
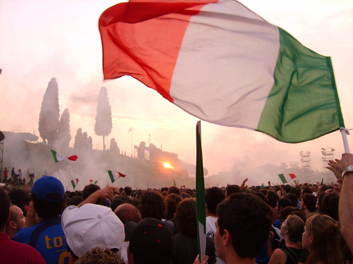
<path fill-rule="evenodd" d="M 341 232 L 328 215 L 315 214 L 306 220 L 303 247 L 309 250 L 306 264 L 339 264 L 343 262 Z"/>

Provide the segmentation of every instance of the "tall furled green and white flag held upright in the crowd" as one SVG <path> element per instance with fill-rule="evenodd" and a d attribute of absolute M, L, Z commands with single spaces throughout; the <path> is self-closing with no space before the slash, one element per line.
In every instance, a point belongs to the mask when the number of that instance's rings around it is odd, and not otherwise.
<path fill-rule="evenodd" d="M 201 121 L 198 121 L 196 125 L 196 219 L 198 250 L 200 261 L 202 261 L 206 253 L 206 208 L 201 147 Z"/>

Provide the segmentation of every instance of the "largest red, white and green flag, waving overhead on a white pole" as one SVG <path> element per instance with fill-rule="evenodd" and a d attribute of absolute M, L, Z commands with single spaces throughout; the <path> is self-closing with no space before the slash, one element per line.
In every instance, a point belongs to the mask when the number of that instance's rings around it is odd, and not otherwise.
<path fill-rule="evenodd" d="M 205 121 L 290 143 L 344 127 L 330 57 L 237 1 L 130 0 L 99 29 L 104 79 L 130 75 Z"/>

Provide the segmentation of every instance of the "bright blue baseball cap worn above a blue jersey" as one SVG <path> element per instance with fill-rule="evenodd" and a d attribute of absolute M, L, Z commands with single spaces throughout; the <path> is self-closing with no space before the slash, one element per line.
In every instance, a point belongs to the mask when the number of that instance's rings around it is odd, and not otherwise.
<path fill-rule="evenodd" d="M 57 178 L 53 176 L 43 176 L 34 183 L 32 193 L 34 193 L 36 197 L 49 202 L 60 202 L 64 199 L 65 188 Z M 49 198 L 47 197 L 48 194 L 60 194 L 61 199 Z"/>

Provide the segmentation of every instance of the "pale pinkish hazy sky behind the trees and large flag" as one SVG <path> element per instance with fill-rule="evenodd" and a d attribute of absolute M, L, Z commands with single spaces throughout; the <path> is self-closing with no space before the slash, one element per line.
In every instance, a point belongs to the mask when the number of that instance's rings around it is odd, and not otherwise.
<path fill-rule="evenodd" d="M 280 26 L 303 45 L 331 56 L 342 114 L 352 124 L 353 1 L 241 1 L 272 24 Z M 0 0 L 0 130 L 38 131 L 44 92 L 52 77 L 59 85 L 60 114 L 70 110 L 71 135 L 81 127 L 102 149 L 102 137 L 94 133 L 97 98 L 107 87 L 112 106 L 114 137 L 120 150 L 148 141 L 178 153 L 195 164 L 195 127 L 192 117 L 162 98 L 155 90 L 131 77 L 103 81 L 102 48 L 98 18 L 111 0 Z M 348 136 L 353 149 L 353 139 Z M 244 128 L 202 122 L 204 166 L 209 175 L 219 171 L 281 162 L 299 162 L 299 151 L 311 151 L 312 168 L 321 171 L 321 148 L 334 147 L 340 157 L 340 132 L 305 143 L 288 144 Z M 6 158 L 6 156 L 4 156 Z"/>

